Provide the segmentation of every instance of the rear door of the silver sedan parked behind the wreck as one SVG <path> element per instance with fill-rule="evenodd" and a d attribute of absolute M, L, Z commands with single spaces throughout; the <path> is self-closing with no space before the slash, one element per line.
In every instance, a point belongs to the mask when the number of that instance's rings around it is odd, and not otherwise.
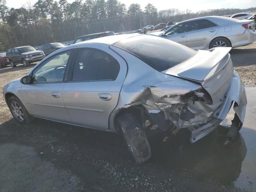
<path fill-rule="evenodd" d="M 218 32 L 219 26 L 207 19 L 190 22 L 187 35 L 188 47 L 193 49 L 208 49 L 212 37 Z"/>

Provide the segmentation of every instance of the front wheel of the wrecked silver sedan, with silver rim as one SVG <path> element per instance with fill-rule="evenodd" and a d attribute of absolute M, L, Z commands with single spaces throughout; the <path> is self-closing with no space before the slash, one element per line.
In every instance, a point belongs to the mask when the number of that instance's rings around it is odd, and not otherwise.
<path fill-rule="evenodd" d="M 28 113 L 25 106 L 16 96 L 11 96 L 8 99 L 8 107 L 12 113 L 12 116 L 18 123 L 29 124 L 32 121 L 32 116 Z"/>

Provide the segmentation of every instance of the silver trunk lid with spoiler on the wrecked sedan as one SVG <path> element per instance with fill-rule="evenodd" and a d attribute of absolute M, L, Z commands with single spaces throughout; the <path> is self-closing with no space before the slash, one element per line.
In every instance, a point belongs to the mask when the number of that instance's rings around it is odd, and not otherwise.
<path fill-rule="evenodd" d="M 228 52 L 231 48 L 199 50 L 198 53 L 163 73 L 201 84 L 212 102 L 220 101 L 227 92 L 233 76 L 233 64 Z"/>

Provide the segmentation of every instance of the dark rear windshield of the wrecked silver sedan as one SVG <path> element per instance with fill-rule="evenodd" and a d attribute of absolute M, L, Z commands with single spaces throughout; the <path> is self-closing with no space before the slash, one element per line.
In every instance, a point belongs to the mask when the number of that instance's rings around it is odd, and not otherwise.
<path fill-rule="evenodd" d="M 191 48 L 152 35 L 127 38 L 116 42 L 114 46 L 134 54 L 159 72 L 172 68 L 197 53 Z"/>

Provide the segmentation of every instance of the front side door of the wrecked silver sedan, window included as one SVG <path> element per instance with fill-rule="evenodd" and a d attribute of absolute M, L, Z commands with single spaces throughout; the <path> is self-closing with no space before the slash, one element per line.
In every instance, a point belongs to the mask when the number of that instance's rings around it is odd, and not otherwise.
<path fill-rule="evenodd" d="M 33 82 L 22 84 L 21 93 L 28 112 L 36 117 L 70 123 L 62 90 L 64 75 L 72 60 L 72 51 L 65 51 L 48 58 L 30 74 Z"/>

